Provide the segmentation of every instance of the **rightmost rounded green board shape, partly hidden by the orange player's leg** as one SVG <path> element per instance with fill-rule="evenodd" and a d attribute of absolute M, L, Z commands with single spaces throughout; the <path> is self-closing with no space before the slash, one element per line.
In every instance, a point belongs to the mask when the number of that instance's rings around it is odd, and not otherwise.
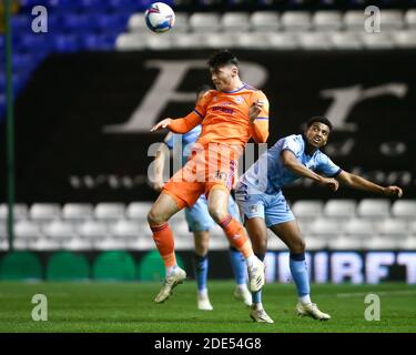
<path fill-rule="evenodd" d="M 176 262 L 185 270 L 182 258 L 176 254 Z M 164 278 L 164 264 L 158 251 L 148 252 L 139 261 L 136 267 L 138 280 L 160 282 Z"/>

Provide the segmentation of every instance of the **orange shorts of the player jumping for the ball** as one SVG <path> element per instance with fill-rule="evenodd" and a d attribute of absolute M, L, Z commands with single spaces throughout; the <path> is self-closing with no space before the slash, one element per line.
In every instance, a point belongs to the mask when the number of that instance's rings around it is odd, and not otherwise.
<path fill-rule="evenodd" d="M 213 189 L 230 192 L 237 169 L 234 158 L 234 152 L 224 144 L 195 149 L 186 164 L 164 184 L 162 192 L 172 196 L 180 209 L 191 207 L 201 194 L 207 196 Z"/>

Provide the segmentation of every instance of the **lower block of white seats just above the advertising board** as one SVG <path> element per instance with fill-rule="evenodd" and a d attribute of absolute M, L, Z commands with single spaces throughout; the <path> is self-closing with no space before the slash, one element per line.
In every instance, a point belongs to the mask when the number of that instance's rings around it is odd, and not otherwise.
<path fill-rule="evenodd" d="M 17 250 L 108 251 L 154 248 L 146 222 L 150 202 L 34 203 L 16 204 L 14 247 Z M 364 199 L 295 201 L 292 211 L 308 250 L 414 250 L 416 246 L 416 201 Z M 184 211 L 170 220 L 177 250 L 192 250 Z M 211 230 L 210 248 L 226 250 L 229 241 L 222 229 Z M 268 247 L 286 246 L 268 231 Z M 0 250 L 8 248 L 7 205 L 0 205 Z"/>

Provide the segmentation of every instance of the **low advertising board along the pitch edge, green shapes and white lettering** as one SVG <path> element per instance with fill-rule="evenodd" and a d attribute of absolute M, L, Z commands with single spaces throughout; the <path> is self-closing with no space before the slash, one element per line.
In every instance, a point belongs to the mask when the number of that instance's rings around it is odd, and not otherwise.
<path fill-rule="evenodd" d="M 193 251 L 179 251 L 176 256 L 189 278 L 194 280 Z M 233 278 L 229 251 L 210 251 L 209 256 L 210 280 Z M 306 262 L 314 283 L 416 284 L 416 252 L 319 251 L 307 252 Z M 287 252 L 267 252 L 265 265 L 267 283 L 293 282 Z M 155 251 L 0 251 L 0 280 L 160 282 L 163 277 L 164 265 Z"/>

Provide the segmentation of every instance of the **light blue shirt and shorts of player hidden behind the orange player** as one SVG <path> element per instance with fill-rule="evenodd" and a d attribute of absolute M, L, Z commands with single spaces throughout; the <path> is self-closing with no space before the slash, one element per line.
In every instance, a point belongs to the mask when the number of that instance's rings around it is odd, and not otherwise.
<path fill-rule="evenodd" d="M 180 149 L 182 151 L 182 165 L 186 163 L 192 145 L 200 136 L 201 129 L 202 126 L 199 124 L 185 134 L 169 133 L 166 135 L 164 142 L 169 149 L 174 151 Z M 239 207 L 231 195 L 229 197 L 229 213 L 240 221 Z M 209 213 L 205 195 L 201 195 L 192 207 L 185 209 L 185 217 L 190 232 L 210 231 L 215 224 Z"/>

